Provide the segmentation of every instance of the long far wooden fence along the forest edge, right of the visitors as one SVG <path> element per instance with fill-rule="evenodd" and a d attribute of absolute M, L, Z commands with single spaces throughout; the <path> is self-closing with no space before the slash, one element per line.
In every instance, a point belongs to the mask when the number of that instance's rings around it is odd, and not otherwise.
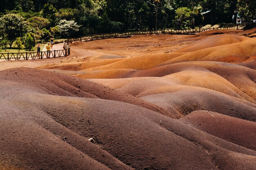
<path fill-rule="evenodd" d="M 163 30 L 146 30 L 146 31 L 129 31 L 129 32 L 121 32 L 121 33 L 104 33 L 104 34 L 93 34 L 93 35 L 86 35 L 77 38 L 70 38 L 65 40 L 67 44 L 72 44 L 73 42 L 83 42 L 83 41 L 92 41 L 92 40 L 99 40 L 99 39 L 106 39 L 106 38 L 123 38 L 123 37 L 130 37 L 131 35 L 147 35 L 147 34 L 197 34 L 202 33 L 204 31 L 211 31 L 216 29 L 243 29 L 246 24 L 236 24 L 234 26 L 224 26 L 219 28 L 207 28 L 207 29 L 182 29 L 182 30 L 175 30 L 175 29 L 163 29 Z"/>

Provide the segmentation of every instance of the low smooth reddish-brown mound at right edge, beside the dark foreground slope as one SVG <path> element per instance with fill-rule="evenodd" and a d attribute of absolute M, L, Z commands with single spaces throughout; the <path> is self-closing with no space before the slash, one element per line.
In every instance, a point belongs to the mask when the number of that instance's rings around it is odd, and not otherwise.
<path fill-rule="evenodd" d="M 209 111 L 195 111 L 182 121 L 213 136 L 256 150 L 256 123 Z"/>

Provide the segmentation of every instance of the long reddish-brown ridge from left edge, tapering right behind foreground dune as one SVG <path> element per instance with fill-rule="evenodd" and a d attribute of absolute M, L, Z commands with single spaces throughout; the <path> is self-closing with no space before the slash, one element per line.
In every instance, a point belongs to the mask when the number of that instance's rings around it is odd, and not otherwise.
<path fill-rule="evenodd" d="M 41 78 L 38 79 L 38 77 Z M 58 77 L 58 79 L 56 79 L 56 77 Z M 168 115 L 166 110 L 159 108 L 154 104 L 141 101 L 132 95 L 120 93 L 120 91 L 113 88 L 108 88 L 101 84 L 76 77 L 70 77 L 64 74 L 31 68 L 16 68 L 1 71 L 0 78 L 7 81 L 15 80 L 16 83 L 20 84 L 22 87 L 29 85 L 30 88 L 36 88 L 40 93 L 116 100 L 139 105 L 160 112 L 164 115 Z M 4 89 L 6 89 L 5 86 Z M 172 117 L 172 115 L 168 116 Z"/>

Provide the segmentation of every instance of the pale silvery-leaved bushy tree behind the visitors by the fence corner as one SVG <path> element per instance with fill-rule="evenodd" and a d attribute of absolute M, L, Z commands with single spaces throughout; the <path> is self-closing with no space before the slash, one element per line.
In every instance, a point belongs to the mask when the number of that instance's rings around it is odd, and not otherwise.
<path fill-rule="evenodd" d="M 60 20 L 58 23 L 58 31 L 63 36 L 63 38 L 70 38 L 74 36 L 77 31 L 79 31 L 80 25 L 78 25 L 74 20 Z"/>

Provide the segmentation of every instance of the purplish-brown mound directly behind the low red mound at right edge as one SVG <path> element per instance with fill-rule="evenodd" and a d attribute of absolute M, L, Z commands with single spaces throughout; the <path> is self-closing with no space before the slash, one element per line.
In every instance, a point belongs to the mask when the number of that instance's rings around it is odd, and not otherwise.
<path fill-rule="evenodd" d="M 249 121 L 256 121 L 256 104 L 202 88 L 185 88 L 174 93 L 140 97 L 167 110 L 187 115 L 195 110 L 209 110 Z"/>

